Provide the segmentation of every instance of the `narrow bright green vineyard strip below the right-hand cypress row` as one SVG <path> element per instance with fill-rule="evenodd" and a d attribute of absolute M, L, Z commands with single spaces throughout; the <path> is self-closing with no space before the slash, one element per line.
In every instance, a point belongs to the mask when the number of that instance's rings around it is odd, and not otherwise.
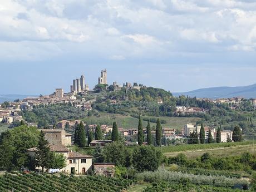
<path fill-rule="evenodd" d="M 214 144 L 193 144 L 193 145 L 176 145 L 176 146 L 165 146 L 162 148 L 164 153 L 166 152 L 179 152 L 179 151 L 190 151 L 190 150 L 201 150 L 201 149 L 214 149 L 222 147 L 231 147 L 239 145 L 250 145 L 252 141 L 244 142 L 221 142 Z"/>

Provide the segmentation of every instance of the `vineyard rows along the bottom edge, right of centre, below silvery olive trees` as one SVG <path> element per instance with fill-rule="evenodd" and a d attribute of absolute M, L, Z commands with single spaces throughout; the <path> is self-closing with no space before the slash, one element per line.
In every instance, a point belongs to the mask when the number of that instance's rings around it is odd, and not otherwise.
<path fill-rule="evenodd" d="M 239 189 L 221 188 L 209 185 L 159 183 L 152 184 L 144 189 L 143 192 L 241 192 Z"/>

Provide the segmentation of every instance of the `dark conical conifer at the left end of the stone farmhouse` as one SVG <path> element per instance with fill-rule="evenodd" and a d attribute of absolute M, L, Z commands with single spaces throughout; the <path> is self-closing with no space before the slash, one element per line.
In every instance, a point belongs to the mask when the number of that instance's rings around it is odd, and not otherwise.
<path fill-rule="evenodd" d="M 50 151 L 48 141 L 45 139 L 43 131 L 40 132 L 38 146 L 35 155 L 35 165 L 41 166 L 42 171 L 49 169 L 53 159 L 53 153 Z"/>

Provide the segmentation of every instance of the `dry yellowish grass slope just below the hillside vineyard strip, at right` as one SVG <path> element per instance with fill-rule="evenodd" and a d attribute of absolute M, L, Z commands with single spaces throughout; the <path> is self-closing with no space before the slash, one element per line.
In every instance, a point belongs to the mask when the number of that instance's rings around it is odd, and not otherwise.
<path fill-rule="evenodd" d="M 179 151 L 179 152 L 167 152 L 165 156 L 176 156 L 180 153 L 185 154 L 190 159 L 195 159 L 203 155 L 205 152 L 209 152 L 210 155 L 215 157 L 225 157 L 225 156 L 237 156 L 242 154 L 243 152 L 252 152 L 255 154 L 256 146 L 252 145 L 244 145 L 244 146 L 231 146 L 231 147 L 224 147 L 220 149 L 203 149 L 203 150 L 194 150 L 194 151 Z"/>

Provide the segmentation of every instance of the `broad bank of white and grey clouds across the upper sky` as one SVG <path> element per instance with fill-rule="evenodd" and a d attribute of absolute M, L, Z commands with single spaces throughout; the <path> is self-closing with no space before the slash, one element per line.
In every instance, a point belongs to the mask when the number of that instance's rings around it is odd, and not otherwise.
<path fill-rule="evenodd" d="M 0 51 L 17 60 L 43 60 L 40 52 L 47 51 L 113 60 L 169 58 L 191 50 L 254 51 L 255 10 L 253 1 L 232 0 L 7 0 L 0 2 L 0 41 L 9 46 Z M 16 54 L 22 41 L 38 53 L 25 48 Z M 65 49 L 55 54 L 60 45 Z"/>

